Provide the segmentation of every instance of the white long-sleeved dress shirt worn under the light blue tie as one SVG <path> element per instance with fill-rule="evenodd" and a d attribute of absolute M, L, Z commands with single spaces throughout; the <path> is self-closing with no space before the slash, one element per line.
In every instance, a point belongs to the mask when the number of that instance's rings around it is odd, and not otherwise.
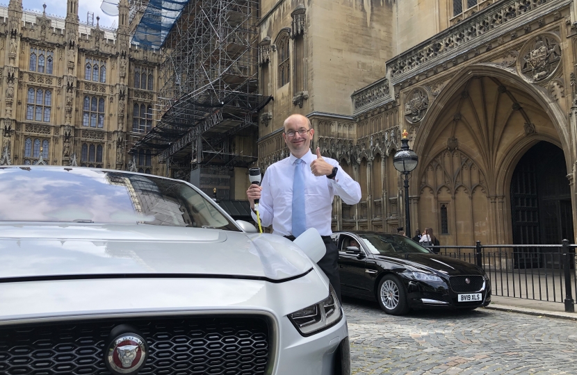
<path fill-rule="evenodd" d="M 311 163 L 316 159 L 311 151 L 301 158 L 304 165 L 304 213 L 306 228 L 316 228 L 320 235 L 331 235 L 332 200 L 339 195 L 347 204 L 356 204 L 361 200 L 361 186 L 343 169 L 339 162 L 324 158 L 325 162 L 339 167 L 333 179 L 327 176 L 315 176 L 311 172 Z M 277 235 L 292 235 L 293 229 L 293 180 L 295 177 L 295 161 L 291 154 L 289 158 L 277 161 L 266 169 L 261 187 L 259 215 L 262 226 L 273 224 L 273 233 Z M 257 221 L 257 215 L 252 213 Z"/>

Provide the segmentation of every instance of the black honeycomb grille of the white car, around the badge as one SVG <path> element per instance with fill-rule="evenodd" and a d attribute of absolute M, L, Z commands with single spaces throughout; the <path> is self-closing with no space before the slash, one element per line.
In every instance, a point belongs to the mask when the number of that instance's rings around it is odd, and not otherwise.
<path fill-rule="evenodd" d="M 111 329 L 136 326 L 149 345 L 138 372 L 158 375 L 264 374 L 269 333 L 260 317 L 113 319 L 0 326 L 0 374 L 110 374 L 103 350 Z"/>

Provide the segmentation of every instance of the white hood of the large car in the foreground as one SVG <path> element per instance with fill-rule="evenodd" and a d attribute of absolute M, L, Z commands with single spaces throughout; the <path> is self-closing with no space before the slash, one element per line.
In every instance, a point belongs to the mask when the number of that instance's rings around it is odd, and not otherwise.
<path fill-rule="evenodd" d="M 282 281 L 312 268 L 279 235 L 146 224 L 0 224 L 0 280 L 106 275 Z"/>

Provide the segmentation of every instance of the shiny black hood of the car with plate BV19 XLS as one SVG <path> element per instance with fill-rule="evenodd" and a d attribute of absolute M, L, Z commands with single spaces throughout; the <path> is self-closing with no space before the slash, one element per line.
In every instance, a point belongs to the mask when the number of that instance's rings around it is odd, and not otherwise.
<path fill-rule="evenodd" d="M 376 258 L 389 260 L 399 265 L 425 269 L 426 271 L 437 270 L 450 276 L 482 274 L 482 271 L 478 269 L 476 265 L 464 262 L 463 260 L 432 253 L 399 253 L 387 256 L 376 256 Z"/>

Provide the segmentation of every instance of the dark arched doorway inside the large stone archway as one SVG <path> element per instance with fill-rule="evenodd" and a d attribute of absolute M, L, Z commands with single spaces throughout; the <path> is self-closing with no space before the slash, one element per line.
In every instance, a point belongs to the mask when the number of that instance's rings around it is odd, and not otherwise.
<path fill-rule="evenodd" d="M 548 142 L 531 147 L 511 178 L 514 244 L 573 240 L 571 188 L 562 149 Z"/>

